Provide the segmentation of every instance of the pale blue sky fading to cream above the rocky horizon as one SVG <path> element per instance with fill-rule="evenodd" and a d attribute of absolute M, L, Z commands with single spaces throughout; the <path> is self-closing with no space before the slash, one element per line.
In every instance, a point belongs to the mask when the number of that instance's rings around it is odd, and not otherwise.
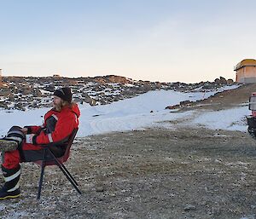
<path fill-rule="evenodd" d="M 0 0 L 3 75 L 235 79 L 256 59 L 253 0 Z"/>

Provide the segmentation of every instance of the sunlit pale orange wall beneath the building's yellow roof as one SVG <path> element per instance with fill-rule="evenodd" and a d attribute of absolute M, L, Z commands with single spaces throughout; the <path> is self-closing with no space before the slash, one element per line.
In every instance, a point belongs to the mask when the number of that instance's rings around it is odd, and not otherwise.
<path fill-rule="evenodd" d="M 244 66 L 236 71 L 236 82 L 256 83 L 256 66 Z"/>

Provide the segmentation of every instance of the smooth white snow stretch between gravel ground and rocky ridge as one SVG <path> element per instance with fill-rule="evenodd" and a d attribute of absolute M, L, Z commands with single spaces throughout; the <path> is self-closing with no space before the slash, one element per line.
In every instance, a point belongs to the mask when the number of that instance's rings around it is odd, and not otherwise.
<path fill-rule="evenodd" d="M 210 95 L 226 89 L 236 89 L 237 85 L 224 86 L 211 92 L 177 92 L 174 90 L 154 90 L 143 95 L 115 101 L 108 105 L 91 107 L 89 104 L 79 104 L 81 111 L 79 137 L 96 135 L 111 131 L 138 130 L 153 126 L 168 126 L 160 123 L 186 118 L 185 125 L 204 125 L 212 129 L 246 130 L 245 115 L 249 114 L 247 106 L 218 112 L 178 112 L 166 110 L 166 106 L 176 105 L 180 101 L 202 100 Z M 26 111 L 0 111 L 0 135 L 5 135 L 12 125 L 42 124 L 44 113 L 49 108 L 31 109 Z M 184 124 L 183 124 L 184 125 Z M 175 127 L 174 127 L 175 128 Z"/>

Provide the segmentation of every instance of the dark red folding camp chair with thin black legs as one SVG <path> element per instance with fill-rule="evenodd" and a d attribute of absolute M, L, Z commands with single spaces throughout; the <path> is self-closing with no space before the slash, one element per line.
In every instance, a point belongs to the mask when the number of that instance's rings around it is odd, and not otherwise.
<path fill-rule="evenodd" d="M 79 186 L 78 182 L 74 180 L 73 176 L 70 174 L 70 172 L 67 170 L 67 168 L 63 164 L 67 161 L 69 157 L 70 148 L 72 146 L 73 140 L 78 130 L 79 129 L 73 130 L 72 134 L 69 136 L 69 139 L 67 141 L 67 147 L 63 156 L 61 156 L 60 158 L 56 158 L 55 155 L 49 150 L 49 147 L 44 147 L 43 158 L 41 160 L 33 161 L 33 163 L 36 163 L 41 166 L 41 175 L 38 182 L 38 198 L 37 199 L 40 199 L 40 195 L 41 195 L 41 189 L 42 189 L 43 177 L 44 177 L 44 168 L 45 166 L 49 166 L 49 165 L 57 165 L 61 169 L 62 173 L 67 177 L 67 180 L 71 182 L 73 187 L 78 191 L 79 194 L 81 194 L 78 187 Z M 47 158 L 46 155 L 49 155 L 51 159 Z"/>

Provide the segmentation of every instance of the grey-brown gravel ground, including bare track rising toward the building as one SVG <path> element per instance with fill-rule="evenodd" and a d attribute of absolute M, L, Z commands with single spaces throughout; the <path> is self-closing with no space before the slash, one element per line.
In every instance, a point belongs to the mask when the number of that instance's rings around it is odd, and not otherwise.
<path fill-rule="evenodd" d="M 197 104 L 243 104 L 254 87 Z M 38 201 L 39 168 L 23 164 L 22 197 L 2 201 L 0 218 L 256 218 L 256 141 L 239 131 L 189 127 L 189 120 L 167 123 L 175 125 L 76 139 L 67 168 L 82 195 L 48 167 Z"/>

